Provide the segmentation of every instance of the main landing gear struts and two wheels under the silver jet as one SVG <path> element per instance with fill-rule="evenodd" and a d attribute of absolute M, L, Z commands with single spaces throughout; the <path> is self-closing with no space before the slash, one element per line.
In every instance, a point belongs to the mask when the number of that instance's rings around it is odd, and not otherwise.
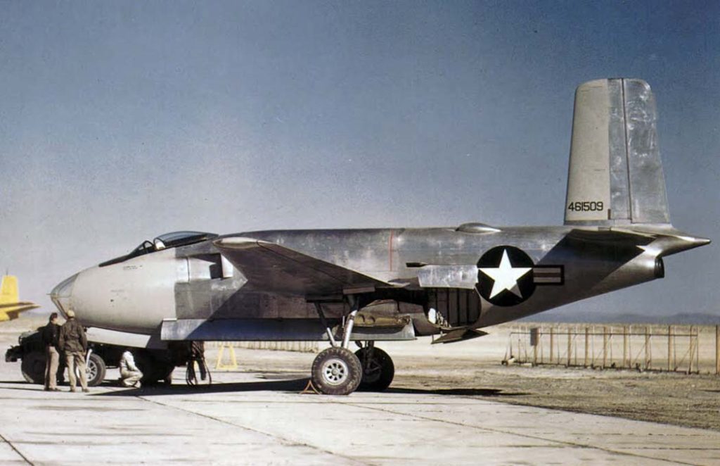
<path fill-rule="evenodd" d="M 325 395 L 350 395 L 355 390 L 382 392 L 389 387 L 395 376 L 395 365 L 387 353 L 375 348 L 374 341 L 368 341 L 364 346 L 356 342 L 360 349 L 355 353 L 348 349 L 357 309 L 346 319 L 342 343 L 333 337 L 320 304 L 316 303 L 315 309 L 332 346 L 320 351 L 312 361 L 312 385 Z"/>

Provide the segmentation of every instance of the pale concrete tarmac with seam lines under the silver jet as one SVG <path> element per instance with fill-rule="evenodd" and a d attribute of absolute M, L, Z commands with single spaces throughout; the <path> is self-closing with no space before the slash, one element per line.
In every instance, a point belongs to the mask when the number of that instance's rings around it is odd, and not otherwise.
<path fill-rule="evenodd" d="M 720 464 L 716 431 L 410 389 L 300 395 L 300 372 L 83 394 L 1 369 L 2 465 Z"/>

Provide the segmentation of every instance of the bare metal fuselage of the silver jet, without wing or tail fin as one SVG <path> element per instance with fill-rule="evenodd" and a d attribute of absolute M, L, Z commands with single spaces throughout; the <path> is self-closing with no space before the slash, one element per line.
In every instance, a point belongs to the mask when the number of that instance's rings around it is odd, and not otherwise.
<path fill-rule="evenodd" d="M 476 296 L 480 312 L 472 322 L 462 321 L 462 316 L 454 318 L 454 312 L 462 314 L 462 303 L 446 303 L 441 312 L 446 313 L 444 319 L 450 326 L 495 325 L 662 276 L 663 251 L 648 247 L 655 239 L 639 234 L 572 227 L 489 230 L 291 230 L 226 237 L 276 243 L 393 284 L 365 292 L 366 302 L 395 299 L 426 312 L 433 306 L 433 292 Z M 308 302 L 311 296 L 282 296 L 254 289 L 243 273 L 223 260 L 214 245 L 216 240 L 88 268 L 60 283 L 53 296 L 63 309 L 75 310 L 85 325 L 132 333 L 159 333 L 163 320 L 168 319 L 317 318 Z M 562 276 L 554 283 L 539 283 L 531 296 L 512 307 L 488 302 L 477 292 L 477 264 L 484 252 L 503 245 L 523 250 L 534 265 L 556 268 Z M 341 298 L 329 300 L 329 317 L 340 317 L 346 306 Z M 416 322 L 424 318 L 418 312 L 411 314 Z M 425 322 L 417 323 L 416 333 L 435 333 L 432 327 L 422 325 Z M 322 328 L 319 330 L 318 338 L 324 338 Z"/>

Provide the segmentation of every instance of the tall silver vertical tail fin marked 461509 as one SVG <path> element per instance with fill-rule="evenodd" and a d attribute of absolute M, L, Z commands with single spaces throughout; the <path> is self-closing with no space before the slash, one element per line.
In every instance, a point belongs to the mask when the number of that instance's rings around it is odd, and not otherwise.
<path fill-rule="evenodd" d="M 669 224 L 655 100 L 641 79 L 577 87 L 566 225 Z"/>

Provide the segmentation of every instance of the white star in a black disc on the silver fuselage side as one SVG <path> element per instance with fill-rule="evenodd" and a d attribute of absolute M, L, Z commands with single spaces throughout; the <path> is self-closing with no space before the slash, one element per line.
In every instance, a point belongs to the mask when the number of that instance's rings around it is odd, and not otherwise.
<path fill-rule="evenodd" d="M 498 246 L 477 261 L 477 291 L 496 306 L 515 306 L 535 291 L 533 260 L 514 246 Z"/>

